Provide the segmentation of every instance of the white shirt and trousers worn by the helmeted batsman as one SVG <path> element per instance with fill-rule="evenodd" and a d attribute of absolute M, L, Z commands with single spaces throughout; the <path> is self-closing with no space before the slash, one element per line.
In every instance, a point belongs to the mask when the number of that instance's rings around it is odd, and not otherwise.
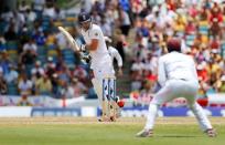
<path fill-rule="evenodd" d="M 98 40 L 97 50 L 89 51 L 89 54 L 92 56 L 90 69 L 94 72 L 94 79 L 92 80 L 92 83 L 98 96 L 99 103 L 101 104 L 103 79 L 115 77 L 113 61 L 106 48 L 103 31 L 98 25 L 92 24 L 87 31 L 82 30 L 82 35 L 84 37 L 84 40 L 87 44 L 89 44 L 93 39 Z"/>

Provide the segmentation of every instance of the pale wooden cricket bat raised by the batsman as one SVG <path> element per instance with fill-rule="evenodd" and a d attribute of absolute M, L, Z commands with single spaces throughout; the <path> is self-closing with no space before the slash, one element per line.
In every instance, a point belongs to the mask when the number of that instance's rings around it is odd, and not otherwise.
<path fill-rule="evenodd" d="M 68 41 L 69 45 L 72 46 L 72 49 L 74 51 L 81 51 L 81 48 L 78 46 L 78 44 L 76 43 L 76 41 L 73 39 L 73 37 L 63 28 L 63 27 L 58 27 L 58 30 L 63 33 L 63 35 L 66 38 L 66 40 Z"/>

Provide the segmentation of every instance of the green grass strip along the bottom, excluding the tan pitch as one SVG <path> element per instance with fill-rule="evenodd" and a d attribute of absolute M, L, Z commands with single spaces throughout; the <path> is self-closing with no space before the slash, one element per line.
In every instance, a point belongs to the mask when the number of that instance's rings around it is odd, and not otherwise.
<path fill-rule="evenodd" d="M 210 138 L 197 125 L 157 124 L 154 136 L 137 138 L 142 122 L 82 124 L 1 124 L 0 145 L 224 145 L 225 125 Z"/>

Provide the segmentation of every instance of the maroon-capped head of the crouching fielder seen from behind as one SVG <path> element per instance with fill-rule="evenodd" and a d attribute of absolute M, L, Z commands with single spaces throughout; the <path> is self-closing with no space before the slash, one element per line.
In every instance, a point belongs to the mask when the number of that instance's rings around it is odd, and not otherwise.
<path fill-rule="evenodd" d="M 178 38 L 172 38 L 168 40 L 167 45 L 168 45 L 169 52 L 172 52 L 172 51 L 181 52 L 181 40 Z"/>

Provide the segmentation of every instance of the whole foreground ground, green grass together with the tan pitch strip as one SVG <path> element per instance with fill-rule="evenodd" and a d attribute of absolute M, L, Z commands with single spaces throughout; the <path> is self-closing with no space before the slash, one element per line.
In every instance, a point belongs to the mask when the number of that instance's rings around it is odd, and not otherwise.
<path fill-rule="evenodd" d="M 0 118 L 0 145 L 225 145 L 225 118 L 212 117 L 215 138 L 192 117 L 158 118 L 154 137 L 137 138 L 143 118 L 98 123 L 85 117 Z"/>

